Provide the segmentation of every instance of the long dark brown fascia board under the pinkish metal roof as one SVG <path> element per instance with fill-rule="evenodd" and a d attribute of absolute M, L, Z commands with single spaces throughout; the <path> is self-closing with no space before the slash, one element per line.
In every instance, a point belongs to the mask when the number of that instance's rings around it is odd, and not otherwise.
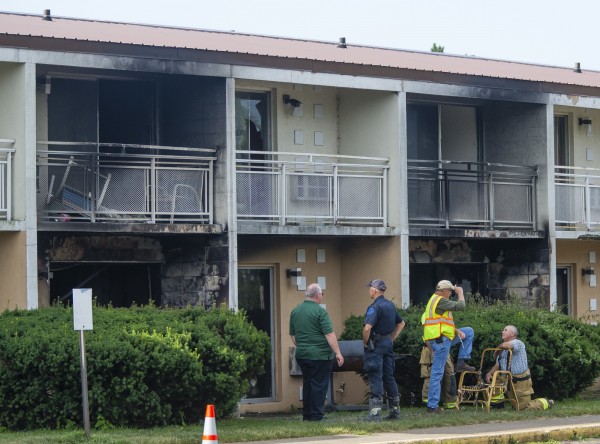
<path fill-rule="evenodd" d="M 141 57 L 159 60 L 195 61 L 215 64 L 254 66 L 261 68 L 309 71 L 358 77 L 376 77 L 398 80 L 434 82 L 448 85 L 475 86 L 511 91 L 600 96 L 600 88 L 548 82 L 528 82 L 502 77 L 485 77 L 438 71 L 393 68 L 378 65 L 357 65 L 320 60 L 284 58 L 235 52 L 216 52 L 188 48 L 142 46 L 132 44 L 94 42 L 87 40 L 54 39 L 37 36 L 0 34 L 0 46 L 40 51 L 105 54 Z"/>

